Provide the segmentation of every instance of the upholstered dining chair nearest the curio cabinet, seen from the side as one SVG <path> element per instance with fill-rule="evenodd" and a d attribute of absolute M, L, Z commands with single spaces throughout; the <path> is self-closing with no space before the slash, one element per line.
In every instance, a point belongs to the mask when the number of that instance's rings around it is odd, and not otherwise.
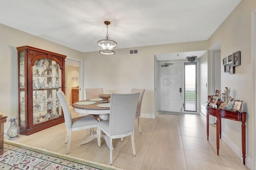
<path fill-rule="evenodd" d="M 72 138 L 72 131 L 97 127 L 99 121 L 93 115 L 86 115 L 72 119 L 65 94 L 61 90 L 59 90 L 57 91 L 57 96 L 60 100 L 60 105 L 64 113 L 65 127 L 67 130 L 65 143 L 68 142 L 66 154 L 68 154 Z"/>

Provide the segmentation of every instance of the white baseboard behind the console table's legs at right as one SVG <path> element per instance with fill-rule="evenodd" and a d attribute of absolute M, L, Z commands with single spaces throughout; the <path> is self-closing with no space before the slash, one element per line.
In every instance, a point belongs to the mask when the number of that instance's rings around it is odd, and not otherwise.
<path fill-rule="evenodd" d="M 221 134 L 221 140 L 224 141 L 236 153 L 236 155 L 241 160 L 243 160 L 242 150 L 236 144 L 234 144 L 234 142 L 232 142 L 232 140 L 230 138 L 228 138 L 228 136 L 226 136 L 226 134 L 224 134 L 223 132 Z M 241 161 L 241 163 L 242 163 L 242 161 Z M 248 168 L 252 169 L 252 159 L 250 157 L 248 157 L 248 155 L 246 155 L 246 158 L 245 158 L 245 165 Z"/>

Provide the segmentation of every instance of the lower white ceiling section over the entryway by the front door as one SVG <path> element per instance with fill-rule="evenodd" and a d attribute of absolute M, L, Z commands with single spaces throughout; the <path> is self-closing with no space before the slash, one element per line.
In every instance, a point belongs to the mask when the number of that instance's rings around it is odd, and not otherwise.
<path fill-rule="evenodd" d="M 181 60 L 186 59 L 188 56 L 197 56 L 197 58 L 201 57 L 205 51 L 188 51 L 188 52 L 182 52 L 182 53 L 165 53 L 165 54 L 156 54 L 156 59 L 158 61 L 168 61 L 168 60 Z M 179 56 L 177 56 L 177 54 Z"/>

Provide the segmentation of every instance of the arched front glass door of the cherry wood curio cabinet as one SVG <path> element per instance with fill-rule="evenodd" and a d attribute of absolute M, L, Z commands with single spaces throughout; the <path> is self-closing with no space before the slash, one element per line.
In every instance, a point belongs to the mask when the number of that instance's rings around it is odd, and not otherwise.
<path fill-rule="evenodd" d="M 52 59 L 42 58 L 33 66 L 33 125 L 62 115 L 56 92 L 61 90 L 61 69 Z"/>

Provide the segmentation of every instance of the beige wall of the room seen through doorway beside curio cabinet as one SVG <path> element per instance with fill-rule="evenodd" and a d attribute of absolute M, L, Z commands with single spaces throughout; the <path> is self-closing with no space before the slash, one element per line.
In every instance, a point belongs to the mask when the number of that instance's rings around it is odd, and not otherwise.
<path fill-rule="evenodd" d="M 66 65 L 66 98 L 69 105 L 72 105 L 72 87 L 79 86 L 79 79 L 72 79 L 72 77 L 79 77 L 79 67 Z"/>

